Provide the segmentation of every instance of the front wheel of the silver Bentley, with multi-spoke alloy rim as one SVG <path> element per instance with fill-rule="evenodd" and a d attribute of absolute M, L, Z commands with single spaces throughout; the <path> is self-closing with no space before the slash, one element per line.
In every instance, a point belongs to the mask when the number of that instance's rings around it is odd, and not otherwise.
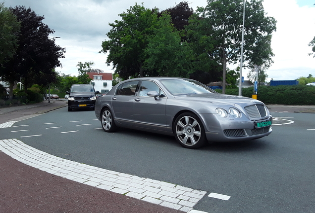
<path fill-rule="evenodd" d="M 174 136 L 182 146 L 195 149 L 207 142 L 204 126 L 194 113 L 184 112 L 180 114 L 174 125 Z"/>

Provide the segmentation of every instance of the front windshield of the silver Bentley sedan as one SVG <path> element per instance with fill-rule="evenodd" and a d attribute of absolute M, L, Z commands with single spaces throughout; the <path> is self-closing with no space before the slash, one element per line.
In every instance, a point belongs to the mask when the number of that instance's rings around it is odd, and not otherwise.
<path fill-rule="evenodd" d="M 217 93 L 208 86 L 192 79 L 165 79 L 160 82 L 172 95 Z"/>

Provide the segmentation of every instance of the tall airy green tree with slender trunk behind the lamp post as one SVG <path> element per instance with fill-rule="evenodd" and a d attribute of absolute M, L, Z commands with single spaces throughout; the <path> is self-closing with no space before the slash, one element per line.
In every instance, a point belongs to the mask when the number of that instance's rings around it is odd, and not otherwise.
<path fill-rule="evenodd" d="M 240 59 L 243 23 L 243 0 L 208 0 L 208 5 L 198 8 L 203 27 L 210 30 L 214 60 L 222 65 L 223 90 L 225 93 L 226 65 L 235 64 Z M 249 65 L 272 63 L 270 48 L 271 34 L 276 30 L 275 19 L 265 16 L 262 0 L 246 2 L 244 33 L 244 62 Z M 259 63 L 258 63 L 259 62 Z"/>

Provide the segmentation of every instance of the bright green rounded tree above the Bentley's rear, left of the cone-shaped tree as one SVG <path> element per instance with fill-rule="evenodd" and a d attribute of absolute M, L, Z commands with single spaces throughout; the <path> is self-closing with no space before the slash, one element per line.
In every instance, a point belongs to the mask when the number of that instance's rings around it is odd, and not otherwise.
<path fill-rule="evenodd" d="M 153 35 L 157 13 L 136 3 L 119 16 L 121 20 L 109 24 L 112 27 L 106 34 L 109 40 L 102 42 L 101 52 L 109 51 L 106 63 L 108 66 L 112 63 L 123 79 L 147 76 L 149 73 L 143 68 L 144 50 Z"/>

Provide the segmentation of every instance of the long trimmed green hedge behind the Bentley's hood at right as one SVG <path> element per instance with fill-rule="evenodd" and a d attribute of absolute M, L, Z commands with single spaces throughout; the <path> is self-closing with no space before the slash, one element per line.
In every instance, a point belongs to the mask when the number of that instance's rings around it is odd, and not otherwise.
<path fill-rule="evenodd" d="M 253 87 L 243 88 L 242 95 L 252 98 Z M 215 90 L 222 93 L 222 90 Z M 238 89 L 225 89 L 225 94 L 238 95 Z M 278 85 L 259 86 L 257 99 L 264 104 L 315 105 L 315 86 Z"/>

